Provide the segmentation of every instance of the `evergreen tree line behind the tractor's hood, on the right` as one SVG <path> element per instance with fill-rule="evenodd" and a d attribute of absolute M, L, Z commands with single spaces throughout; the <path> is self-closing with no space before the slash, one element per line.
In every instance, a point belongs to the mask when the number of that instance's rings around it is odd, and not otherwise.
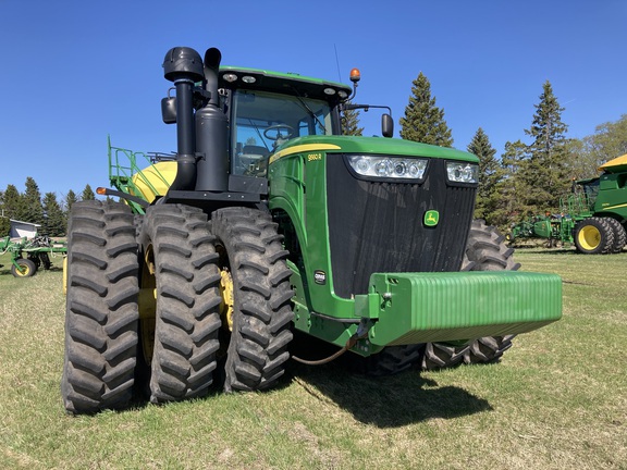
<path fill-rule="evenodd" d="M 616 122 L 597 126 L 581 139 L 567 138 L 568 125 L 562 121 L 551 83 L 542 85 L 533 104 L 529 128 L 521 138 L 507 141 L 500 157 L 490 138 L 479 127 L 466 150 L 479 158 L 480 181 L 475 217 L 502 230 L 530 215 L 557 213 L 561 198 L 573 181 L 597 177 L 604 162 L 627 153 L 627 114 Z M 420 72 L 411 83 L 411 95 L 401 118 L 401 137 L 423 144 L 452 147 L 452 131 L 431 94 L 429 79 Z M 344 133 L 361 135 L 355 110 L 343 114 Z"/>

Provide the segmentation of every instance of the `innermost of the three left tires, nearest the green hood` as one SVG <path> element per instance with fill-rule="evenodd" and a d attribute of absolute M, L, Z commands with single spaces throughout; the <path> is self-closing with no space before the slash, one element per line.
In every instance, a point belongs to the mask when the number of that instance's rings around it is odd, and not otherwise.
<path fill-rule="evenodd" d="M 273 386 L 290 359 L 293 320 L 282 236 L 268 213 L 249 208 L 213 212 L 220 265 L 233 283 L 232 321 L 224 364 L 224 391 Z"/>

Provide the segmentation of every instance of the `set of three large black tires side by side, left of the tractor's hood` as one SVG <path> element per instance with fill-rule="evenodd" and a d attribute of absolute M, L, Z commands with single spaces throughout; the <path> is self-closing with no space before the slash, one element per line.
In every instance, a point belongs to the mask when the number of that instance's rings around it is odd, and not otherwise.
<path fill-rule="evenodd" d="M 263 212 L 74 205 L 61 383 L 72 413 L 206 395 L 224 349 L 224 389 L 272 386 L 292 338 L 290 270 Z M 226 289 L 225 289 L 226 288 Z M 224 292 L 232 293 L 226 296 Z"/>

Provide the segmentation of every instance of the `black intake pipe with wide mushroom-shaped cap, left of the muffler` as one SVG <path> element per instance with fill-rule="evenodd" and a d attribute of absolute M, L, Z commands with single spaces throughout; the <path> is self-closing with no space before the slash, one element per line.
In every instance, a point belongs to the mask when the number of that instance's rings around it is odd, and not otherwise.
<path fill-rule="evenodd" d="M 163 75 L 176 87 L 176 178 L 171 190 L 190 190 L 196 184 L 196 137 L 194 132 L 194 84 L 205 79 L 200 54 L 175 47 L 163 60 Z"/>

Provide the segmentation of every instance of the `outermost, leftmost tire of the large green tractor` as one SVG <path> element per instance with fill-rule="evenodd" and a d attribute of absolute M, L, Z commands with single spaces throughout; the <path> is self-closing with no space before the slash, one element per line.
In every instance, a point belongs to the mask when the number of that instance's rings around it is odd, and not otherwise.
<path fill-rule="evenodd" d="M 137 244 L 127 206 L 72 206 L 61 395 L 71 413 L 123 408 L 137 346 Z"/>

